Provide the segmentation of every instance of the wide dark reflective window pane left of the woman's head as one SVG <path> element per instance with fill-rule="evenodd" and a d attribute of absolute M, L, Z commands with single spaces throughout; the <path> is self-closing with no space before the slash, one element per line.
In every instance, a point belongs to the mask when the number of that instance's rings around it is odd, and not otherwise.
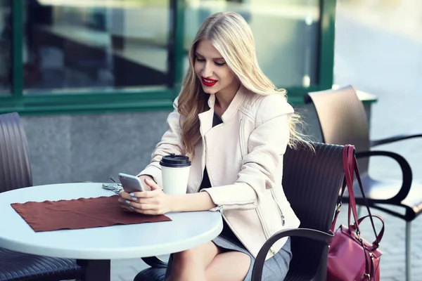
<path fill-rule="evenodd" d="M 25 0 L 25 92 L 170 84 L 170 0 Z"/>

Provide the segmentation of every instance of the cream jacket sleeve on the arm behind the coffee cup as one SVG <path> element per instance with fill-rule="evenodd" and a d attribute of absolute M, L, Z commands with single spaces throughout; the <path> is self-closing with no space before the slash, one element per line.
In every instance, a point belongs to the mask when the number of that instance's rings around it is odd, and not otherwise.
<path fill-rule="evenodd" d="M 155 146 L 155 150 L 151 155 L 151 163 L 141 171 L 138 176 L 149 175 L 152 176 L 155 183 L 162 188 L 162 176 L 160 160 L 163 156 L 174 153 L 181 155 L 184 152 L 184 145 L 181 141 L 181 127 L 179 119 L 181 115 L 177 111 L 179 97 L 174 100 L 173 112 L 167 117 L 168 129 L 161 138 L 161 141 Z"/>

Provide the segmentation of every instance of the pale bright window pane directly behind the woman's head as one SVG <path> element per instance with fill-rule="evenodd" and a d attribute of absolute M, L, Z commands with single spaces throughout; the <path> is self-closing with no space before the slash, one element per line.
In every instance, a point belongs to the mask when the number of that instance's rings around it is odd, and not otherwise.
<path fill-rule="evenodd" d="M 243 15 L 255 37 L 260 67 L 279 87 L 318 81 L 319 0 L 186 0 L 185 50 L 200 24 L 220 11 Z M 185 59 L 185 70 L 188 60 Z"/>

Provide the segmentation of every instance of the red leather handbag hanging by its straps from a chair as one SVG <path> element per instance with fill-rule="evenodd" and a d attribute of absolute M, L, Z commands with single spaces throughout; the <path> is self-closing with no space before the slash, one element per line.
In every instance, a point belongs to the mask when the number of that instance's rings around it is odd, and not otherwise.
<path fill-rule="evenodd" d="M 341 198 L 343 192 L 347 187 L 349 192 L 349 214 L 348 226 L 340 226 L 334 233 L 334 239 L 330 244 L 328 250 L 328 281 L 357 281 L 357 280 L 380 280 L 380 260 L 381 251 L 378 249 L 381 239 L 384 234 L 384 221 L 381 216 L 372 215 L 369 209 L 368 202 L 364 195 L 362 188 L 362 181 L 359 176 L 359 169 L 357 167 L 356 157 L 354 157 L 354 146 L 345 145 L 343 150 L 343 168 L 345 170 L 345 183 L 338 201 L 338 207 L 335 212 L 331 231 L 334 230 L 335 221 L 337 221 L 338 213 L 340 212 Z M 357 219 L 356 201 L 353 192 L 353 172 L 357 177 L 359 188 L 362 192 L 362 197 L 366 203 L 368 216 Z M 354 223 L 350 223 L 350 215 L 353 214 Z M 359 224 L 365 218 L 370 218 L 373 233 L 376 240 L 372 243 L 367 242 L 362 238 Z M 376 233 L 376 228 L 373 224 L 373 218 L 378 218 L 382 222 L 380 233 Z"/>

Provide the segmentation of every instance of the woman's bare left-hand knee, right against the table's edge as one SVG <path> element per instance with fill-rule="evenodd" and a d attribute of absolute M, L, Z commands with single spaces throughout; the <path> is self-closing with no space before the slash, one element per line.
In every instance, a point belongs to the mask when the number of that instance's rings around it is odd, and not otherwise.
<path fill-rule="evenodd" d="M 219 247 L 207 242 L 199 247 L 172 255 L 172 270 L 166 281 L 206 281 L 205 270 L 220 253 Z"/>

